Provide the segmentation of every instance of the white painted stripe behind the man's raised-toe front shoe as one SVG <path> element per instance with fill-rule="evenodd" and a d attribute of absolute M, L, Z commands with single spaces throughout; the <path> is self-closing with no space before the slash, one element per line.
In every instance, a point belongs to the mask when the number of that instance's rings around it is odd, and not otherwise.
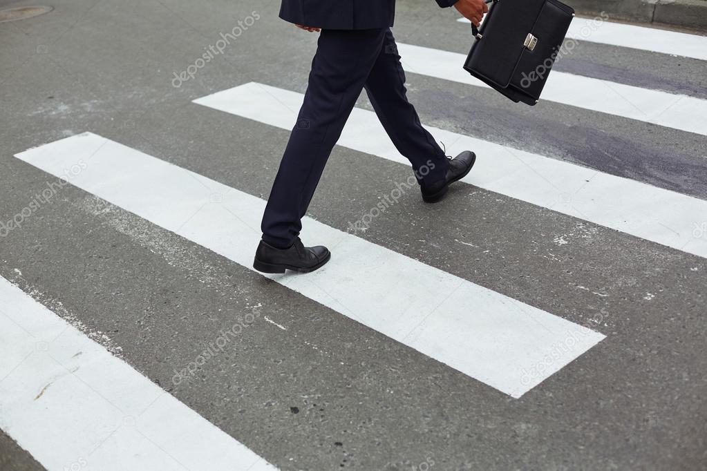
<path fill-rule="evenodd" d="M 292 129 L 302 99 L 300 93 L 246 83 L 194 102 Z M 474 170 L 462 181 L 707 257 L 706 238 L 695 237 L 696 228 L 707 223 L 707 201 L 443 129 L 428 130 L 452 155 L 464 149 L 476 151 Z M 339 145 L 409 163 L 392 145 L 375 114 L 365 109 L 354 109 Z"/>

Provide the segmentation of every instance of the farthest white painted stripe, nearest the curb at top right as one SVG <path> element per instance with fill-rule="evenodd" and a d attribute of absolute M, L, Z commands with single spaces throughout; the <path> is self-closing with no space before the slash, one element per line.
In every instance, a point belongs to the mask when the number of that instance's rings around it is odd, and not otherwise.
<path fill-rule="evenodd" d="M 469 24 L 466 18 L 459 18 L 457 21 Z M 567 37 L 578 41 L 707 60 L 707 36 L 612 23 L 603 21 L 601 18 L 575 17 Z"/>

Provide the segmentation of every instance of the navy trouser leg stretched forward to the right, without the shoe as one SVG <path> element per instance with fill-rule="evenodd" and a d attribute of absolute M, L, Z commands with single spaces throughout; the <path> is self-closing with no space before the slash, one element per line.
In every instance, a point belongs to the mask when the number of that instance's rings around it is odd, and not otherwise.
<path fill-rule="evenodd" d="M 447 157 L 407 101 L 405 72 L 390 30 L 365 87 L 378 119 L 399 153 L 412 164 L 416 177 L 428 183 L 443 179 L 449 167 Z"/>

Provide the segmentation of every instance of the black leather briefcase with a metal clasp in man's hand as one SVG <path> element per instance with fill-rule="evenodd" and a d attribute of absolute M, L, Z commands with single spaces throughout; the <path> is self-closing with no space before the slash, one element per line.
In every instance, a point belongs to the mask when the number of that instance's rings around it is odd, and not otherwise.
<path fill-rule="evenodd" d="M 574 10 L 557 0 L 493 0 L 464 69 L 514 102 L 535 105 Z"/>

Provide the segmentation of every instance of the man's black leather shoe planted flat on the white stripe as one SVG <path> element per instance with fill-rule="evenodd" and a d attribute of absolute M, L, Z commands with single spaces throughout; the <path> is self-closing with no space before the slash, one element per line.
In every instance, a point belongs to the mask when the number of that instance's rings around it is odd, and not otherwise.
<path fill-rule="evenodd" d="M 255 251 L 253 268 L 263 273 L 285 273 L 285 270 L 309 273 L 323 266 L 329 258 L 332 258 L 329 249 L 322 246 L 305 247 L 299 237 L 289 249 L 278 249 L 260 241 Z"/>

